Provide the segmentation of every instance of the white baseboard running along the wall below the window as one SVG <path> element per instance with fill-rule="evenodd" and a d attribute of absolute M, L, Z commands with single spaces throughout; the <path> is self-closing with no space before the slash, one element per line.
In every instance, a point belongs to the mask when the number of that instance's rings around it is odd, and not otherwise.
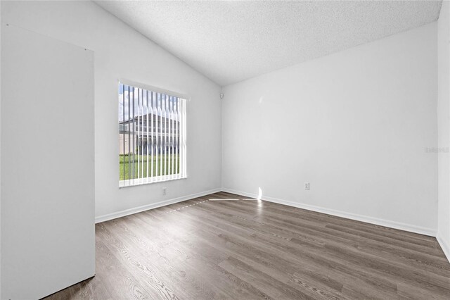
<path fill-rule="evenodd" d="M 105 221 L 108 221 L 108 220 L 121 218 L 121 217 L 124 217 L 125 215 L 132 215 L 134 213 L 141 213 L 142 211 L 148 211 L 149 209 L 158 208 L 158 207 L 161 207 L 161 206 L 166 206 L 166 205 L 178 203 L 178 202 L 181 202 L 181 201 L 191 200 L 191 199 L 195 199 L 195 198 L 198 198 L 198 197 L 201 197 L 201 196 L 214 194 L 214 193 L 217 193 L 217 192 L 221 192 L 221 189 L 210 189 L 209 191 L 200 192 L 200 193 L 191 194 L 191 195 L 186 195 L 186 196 L 181 196 L 181 197 L 173 198 L 173 199 L 168 199 L 168 200 L 160 201 L 160 202 L 153 203 L 153 204 L 147 204 L 147 205 L 143 205 L 143 206 L 129 208 L 129 209 L 126 209 L 124 211 L 117 211 L 115 213 L 108 213 L 107 215 L 99 215 L 98 217 L 96 217 L 96 223 L 101 223 L 101 222 L 105 222 Z"/>

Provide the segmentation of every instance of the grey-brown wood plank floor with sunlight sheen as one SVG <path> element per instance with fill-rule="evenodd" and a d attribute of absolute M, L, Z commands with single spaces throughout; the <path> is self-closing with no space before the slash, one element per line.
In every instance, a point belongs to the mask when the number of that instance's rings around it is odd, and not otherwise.
<path fill-rule="evenodd" d="M 96 225 L 96 276 L 47 299 L 450 299 L 433 237 L 217 193 Z"/>

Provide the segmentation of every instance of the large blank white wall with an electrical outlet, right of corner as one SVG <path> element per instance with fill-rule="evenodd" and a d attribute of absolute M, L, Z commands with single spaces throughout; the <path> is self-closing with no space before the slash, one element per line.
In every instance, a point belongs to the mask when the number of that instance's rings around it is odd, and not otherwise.
<path fill-rule="evenodd" d="M 436 23 L 223 91 L 224 189 L 435 235 Z"/>

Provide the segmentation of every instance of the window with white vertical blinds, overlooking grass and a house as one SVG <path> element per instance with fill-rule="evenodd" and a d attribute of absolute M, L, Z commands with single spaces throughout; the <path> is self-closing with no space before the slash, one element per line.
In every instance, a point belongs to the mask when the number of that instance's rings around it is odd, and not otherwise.
<path fill-rule="evenodd" d="M 120 187 L 186 178 L 184 98 L 119 83 Z"/>

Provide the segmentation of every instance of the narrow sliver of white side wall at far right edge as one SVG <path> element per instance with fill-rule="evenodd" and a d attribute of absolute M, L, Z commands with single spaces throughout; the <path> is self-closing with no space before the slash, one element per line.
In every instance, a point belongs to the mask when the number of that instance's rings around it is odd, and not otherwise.
<path fill-rule="evenodd" d="M 438 213 L 437 239 L 450 260 L 450 3 L 442 2 L 437 22 Z"/>

